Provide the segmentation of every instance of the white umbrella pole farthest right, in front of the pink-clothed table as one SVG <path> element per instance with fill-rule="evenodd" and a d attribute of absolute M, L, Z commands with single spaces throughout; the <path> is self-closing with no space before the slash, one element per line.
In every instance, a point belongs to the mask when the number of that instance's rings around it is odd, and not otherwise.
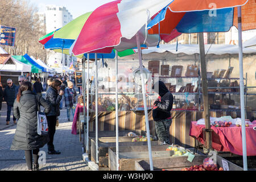
<path fill-rule="evenodd" d="M 242 120 L 242 149 L 243 149 L 243 171 L 247 171 L 246 131 L 245 131 L 245 90 L 243 83 L 243 49 L 242 49 L 242 13 L 241 6 L 237 7 L 238 15 L 238 46 L 239 46 L 239 69 L 240 69 L 240 105 Z"/>

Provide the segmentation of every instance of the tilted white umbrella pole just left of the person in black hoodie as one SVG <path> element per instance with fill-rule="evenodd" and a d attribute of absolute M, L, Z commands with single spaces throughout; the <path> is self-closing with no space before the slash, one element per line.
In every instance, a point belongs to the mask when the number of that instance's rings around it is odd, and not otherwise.
<path fill-rule="evenodd" d="M 142 56 L 141 56 L 141 44 L 139 42 L 139 34 L 136 34 L 138 55 L 139 55 L 139 69 L 141 71 L 141 81 L 142 81 L 142 94 L 143 94 L 143 104 L 144 104 L 144 113 L 146 121 L 146 130 L 147 130 L 147 145 L 148 145 L 148 155 L 150 159 L 150 171 L 153 171 L 153 160 L 152 160 L 152 151 L 151 151 L 151 140 L 150 140 L 150 127 L 148 123 L 148 113 L 147 113 L 147 100 L 146 100 L 146 89 L 144 83 L 144 74 L 143 74 L 143 65 L 142 65 Z"/>

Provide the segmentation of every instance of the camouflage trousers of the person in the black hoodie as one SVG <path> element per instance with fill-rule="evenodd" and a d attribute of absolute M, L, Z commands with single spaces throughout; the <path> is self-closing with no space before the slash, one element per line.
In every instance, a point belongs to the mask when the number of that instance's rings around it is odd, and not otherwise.
<path fill-rule="evenodd" d="M 162 119 L 155 121 L 155 131 L 160 142 L 166 142 L 170 144 L 169 129 L 172 123 L 172 119 Z"/>

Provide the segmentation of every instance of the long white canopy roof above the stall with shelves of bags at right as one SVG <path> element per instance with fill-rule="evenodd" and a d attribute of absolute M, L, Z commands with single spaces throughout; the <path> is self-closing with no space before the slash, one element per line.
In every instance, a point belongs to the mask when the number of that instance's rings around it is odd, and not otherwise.
<path fill-rule="evenodd" d="M 194 53 L 200 53 L 198 44 L 178 44 L 176 51 L 176 44 L 160 44 L 159 48 L 157 47 L 148 47 L 147 49 L 143 49 L 143 54 L 148 54 L 151 52 L 171 52 L 174 54 L 177 53 L 185 53 L 187 55 L 193 55 Z M 223 54 L 238 54 L 238 46 L 234 45 L 221 45 L 221 44 L 205 44 L 205 54 L 215 54 L 215 55 L 223 55 Z M 135 51 L 138 52 L 137 49 Z M 243 53 L 256 53 L 255 49 L 245 48 L 243 47 Z"/>

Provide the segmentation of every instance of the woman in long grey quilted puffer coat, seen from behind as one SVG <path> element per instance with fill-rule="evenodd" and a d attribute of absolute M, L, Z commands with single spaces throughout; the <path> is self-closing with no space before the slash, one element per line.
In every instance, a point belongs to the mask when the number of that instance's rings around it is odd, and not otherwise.
<path fill-rule="evenodd" d="M 25 81 L 20 85 L 17 98 L 14 101 L 14 115 L 19 120 L 11 150 L 24 150 L 28 170 L 39 170 L 39 151 L 49 140 L 48 136 L 41 136 L 37 133 L 38 106 L 45 108 L 48 113 L 51 106 L 43 97 L 32 93 L 32 84 Z M 34 163 L 32 160 L 34 158 Z M 33 164 L 33 167 L 32 167 Z"/>

